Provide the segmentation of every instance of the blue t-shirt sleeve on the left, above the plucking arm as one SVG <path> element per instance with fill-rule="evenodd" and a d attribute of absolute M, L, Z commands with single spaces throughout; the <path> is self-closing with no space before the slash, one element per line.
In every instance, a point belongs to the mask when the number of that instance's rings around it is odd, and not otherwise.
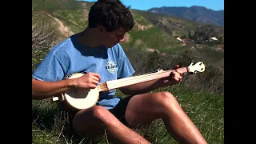
<path fill-rule="evenodd" d="M 32 74 L 32 78 L 45 82 L 56 82 L 62 80 L 63 77 L 62 65 L 52 53 L 46 55 L 46 58 L 42 60 Z"/>

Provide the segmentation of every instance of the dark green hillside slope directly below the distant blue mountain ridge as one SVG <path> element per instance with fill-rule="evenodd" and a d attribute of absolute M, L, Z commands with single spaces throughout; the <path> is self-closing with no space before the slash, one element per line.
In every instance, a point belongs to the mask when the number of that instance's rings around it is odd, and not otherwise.
<path fill-rule="evenodd" d="M 189 32 L 192 35 L 195 33 L 203 33 L 202 35 L 206 35 L 206 38 L 210 38 L 213 35 L 222 38 L 224 36 L 224 26 L 209 25 L 185 18 L 155 14 L 143 10 L 134 10 L 134 12 L 142 15 L 149 22 L 153 23 L 154 26 L 158 26 L 173 36 L 188 36 Z"/>

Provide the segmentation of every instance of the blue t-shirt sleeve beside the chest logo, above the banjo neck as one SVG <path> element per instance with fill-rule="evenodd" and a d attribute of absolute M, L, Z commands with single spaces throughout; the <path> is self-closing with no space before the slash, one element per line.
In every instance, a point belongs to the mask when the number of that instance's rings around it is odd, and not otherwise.
<path fill-rule="evenodd" d="M 131 66 L 129 59 L 127 58 L 124 50 L 122 50 L 122 46 L 119 45 L 119 60 L 118 60 L 118 79 L 119 78 L 127 78 L 134 74 L 135 70 L 133 66 Z"/>

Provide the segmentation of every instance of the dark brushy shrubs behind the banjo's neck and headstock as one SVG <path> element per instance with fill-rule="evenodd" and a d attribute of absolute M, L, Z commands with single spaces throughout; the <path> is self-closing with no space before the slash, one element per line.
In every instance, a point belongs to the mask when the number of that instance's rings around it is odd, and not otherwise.
<path fill-rule="evenodd" d="M 191 62 L 201 62 L 201 58 L 191 50 L 184 50 L 180 54 L 159 54 L 157 51 L 146 51 L 124 48 L 136 74 L 155 72 L 159 68 L 170 70 L 175 65 L 189 66 Z M 224 94 L 224 71 L 217 64 L 205 63 L 206 70 L 198 74 L 185 74 L 182 86 L 190 86 L 198 90 L 207 90 L 215 94 Z"/>

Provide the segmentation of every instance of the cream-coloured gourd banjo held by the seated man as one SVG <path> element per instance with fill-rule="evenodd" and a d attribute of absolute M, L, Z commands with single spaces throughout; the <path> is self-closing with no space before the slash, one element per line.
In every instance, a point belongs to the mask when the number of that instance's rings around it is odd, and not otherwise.
<path fill-rule="evenodd" d="M 205 65 L 202 62 L 191 63 L 190 66 L 178 68 L 178 70 L 182 70 L 183 73 L 195 74 L 197 72 L 203 72 L 205 70 Z M 146 82 L 158 78 L 165 78 L 170 75 L 173 70 L 158 70 L 157 72 L 150 74 L 142 74 L 137 76 L 132 76 L 129 78 L 121 78 L 116 80 L 111 80 L 107 82 L 103 82 L 98 85 L 94 89 L 83 90 L 83 89 L 72 89 L 66 91 L 64 94 L 60 94 L 58 96 L 54 96 L 52 100 L 54 102 L 62 102 L 64 101 L 66 104 L 71 106 L 76 110 L 88 109 L 92 106 L 95 106 L 98 102 L 99 92 L 113 90 L 117 88 L 121 88 L 124 86 L 134 85 L 140 82 Z M 70 74 L 67 78 L 79 78 L 82 77 L 83 73 L 74 73 Z"/>

